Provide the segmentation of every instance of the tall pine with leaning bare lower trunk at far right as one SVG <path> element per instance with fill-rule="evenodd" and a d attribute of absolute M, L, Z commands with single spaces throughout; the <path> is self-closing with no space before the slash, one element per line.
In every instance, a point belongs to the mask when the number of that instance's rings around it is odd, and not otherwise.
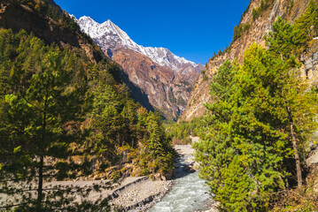
<path fill-rule="evenodd" d="M 312 14 L 314 8 L 315 4 L 311 2 L 305 16 L 307 13 Z M 300 151 L 304 151 L 302 146 L 306 146 L 304 142 L 308 141 L 308 134 L 311 135 L 317 127 L 314 117 L 318 108 L 315 106 L 317 96 L 314 92 L 314 87 L 310 87 L 306 79 L 300 77 L 301 74 L 298 69 L 300 64 L 296 60 L 296 56 L 292 54 L 299 53 L 295 49 L 303 45 L 303 43 L 295 39 L 298 33 L 299 29 L 295 30 L 295 27 L 279 18 L 273 25 L 273 33 L 269 34 L 267 42 L 269 52 L 275 57 L 282 58 L 283 71 L 280 78 L 277 79 L 281 81 L 283 86 L 277 92 L 280 94 L 280 98 L 283 99 L 286 116 L 288 117 L 290 137 L 296 160 L 298 185 L 301 187 L 301 161 L 305 160 L 305 158 L 300 158 Z M 300 123 L 301 125 L 299 125 Z M 301 135 L 302 133 L 304 135 Z"/>

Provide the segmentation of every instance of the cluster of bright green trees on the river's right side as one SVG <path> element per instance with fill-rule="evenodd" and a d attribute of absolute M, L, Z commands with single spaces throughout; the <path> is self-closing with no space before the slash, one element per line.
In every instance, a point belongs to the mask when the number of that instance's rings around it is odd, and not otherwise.
<path fill-rule="evenodd" d="M 213 76 L 213 102 L 206 104 L 194 148 L 200 176 L 221 211 L 318 208 L 314 179 L 304 180 L 306 157 L 316 145 L 318 95 L 300 74 L 317 20 L 314 1 L 294 24 L 278 18 L 266 49 L 252 44 L 243 64 L 228 60 Z"/>

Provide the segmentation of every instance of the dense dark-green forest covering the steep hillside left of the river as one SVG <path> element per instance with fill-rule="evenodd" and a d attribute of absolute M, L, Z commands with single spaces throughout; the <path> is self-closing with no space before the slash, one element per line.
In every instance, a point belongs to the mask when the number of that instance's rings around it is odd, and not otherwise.
<path fill-rule="evenodd" d="M 81 34 L 48 1 L 4 4 L 27 4 Z M 105 185 L 49 189 L 43 183 L 155 173 L 171 178 L 174 149 L 161 117 L 136 103 L 120 66 L 92 48 L 97 62 L 82 49 L 0 29 L 1 210 L 108 210 L 106 200 L 77 202 L 73 195 L 85 197 Z"/>

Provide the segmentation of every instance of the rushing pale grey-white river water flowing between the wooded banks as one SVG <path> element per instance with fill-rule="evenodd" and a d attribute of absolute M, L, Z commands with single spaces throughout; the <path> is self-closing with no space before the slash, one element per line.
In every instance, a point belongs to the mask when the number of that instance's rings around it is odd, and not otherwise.
<path fill-rule="evenodd" d="M 193 212 L 209 208 L 211 201 L 208 188 L 204 186 L 205 182 L 198 178 L 198 172 L 190 173 L 184 169 L 188 165 L 185 161 L 189 157 L 191 155 L 178 158 L 174 186 L 148 212 Z"/>

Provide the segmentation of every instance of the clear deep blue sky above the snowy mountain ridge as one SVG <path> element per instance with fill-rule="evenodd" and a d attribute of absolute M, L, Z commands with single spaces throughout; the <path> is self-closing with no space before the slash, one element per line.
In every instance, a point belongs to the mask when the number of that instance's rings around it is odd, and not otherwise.
<path fill-rule="evenodd" d="M 229 46 L 233 28 L 250 0 L 55 0 L 76 18 L 111 19 L 145 47 L 165 47 L 175 55 L 206 64 Z"/>

